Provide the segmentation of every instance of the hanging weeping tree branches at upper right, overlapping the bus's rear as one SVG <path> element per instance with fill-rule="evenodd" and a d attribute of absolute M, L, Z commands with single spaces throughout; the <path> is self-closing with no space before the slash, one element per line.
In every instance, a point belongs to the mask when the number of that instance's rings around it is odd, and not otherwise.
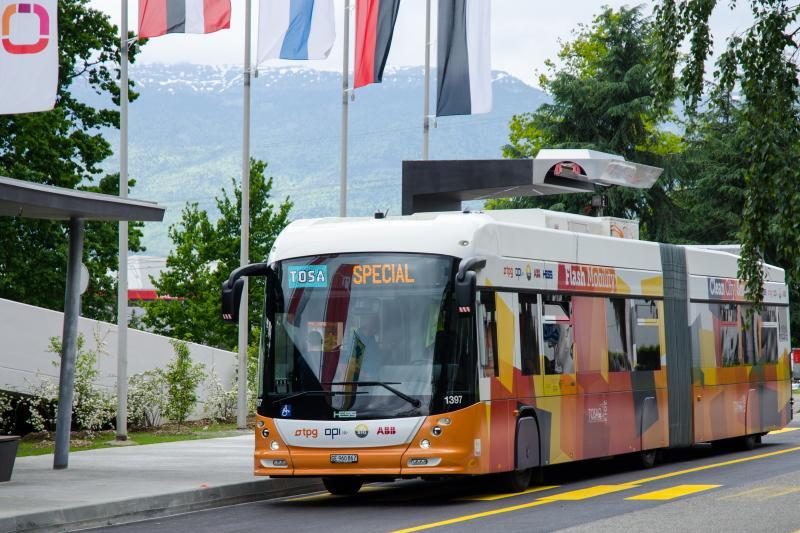
<path fill-rule="evenodd" d="M 800 280 L 800 156 L 798 67 L 800 6 L 784 0 L 751 0 L 753 24 L 728 38 L 707 91 L 706 62 L 712 51 L 709 19 L 716 0 L 662 0 L 656 9 L 657 101 L 680 97 L 690 116 L 705 107 L 735 114 L 744 198 L 738 240 L 739 277 L 747 297 L 760 305 L 763 262 L 786 269 L 791 286 Z M 736 0 L 727 3 L 735 7 Z M 689 43 L 685 61 L 679 51 Z M 674 73 L 680 70 L 676 80 Z"/>

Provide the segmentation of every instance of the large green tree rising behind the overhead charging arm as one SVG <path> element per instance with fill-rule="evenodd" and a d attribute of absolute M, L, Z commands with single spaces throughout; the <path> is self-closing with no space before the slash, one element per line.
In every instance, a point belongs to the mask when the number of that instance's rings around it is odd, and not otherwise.
<path fill-rule="evenodd" d="M 665 166 L 649 191 L 611 187 L 606 214 L 638 218 L 648 238 L 675 238 L 679 212 L 668 195 L 675 176 L 670 159 L 680 138 L 657 129 L 652 87 L 652 24 L 640 8 L 605 8 L 575 39 L 562 45 L 559 63 L 547 62 L 540 85 L 552 96 L 531 113 L 515 115 L 505 157 L 535 157 L 541 148 L 592 148 L 639 163 Z M 490 207 L 547 207 L 588 212 L 591 195 L 517 198 Z"/>

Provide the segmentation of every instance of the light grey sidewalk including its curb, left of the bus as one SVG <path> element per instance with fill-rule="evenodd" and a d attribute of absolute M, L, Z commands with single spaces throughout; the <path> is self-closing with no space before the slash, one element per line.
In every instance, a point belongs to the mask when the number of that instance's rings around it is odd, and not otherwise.
<path fill-rule="evenodd" d="M 0 532 L 63 531 L 319 490 L 253 476 L 253 435 L 17 458 L 0 483 Z"/>

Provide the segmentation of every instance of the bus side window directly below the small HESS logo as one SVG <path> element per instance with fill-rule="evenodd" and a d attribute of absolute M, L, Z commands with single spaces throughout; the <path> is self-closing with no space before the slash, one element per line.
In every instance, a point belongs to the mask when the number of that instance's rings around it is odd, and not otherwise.
<path fill-rule="evenodd" d="M 574 373 L 572 302 L 568 295 L 542 297 L 542 333 L 544 373 Z"/>

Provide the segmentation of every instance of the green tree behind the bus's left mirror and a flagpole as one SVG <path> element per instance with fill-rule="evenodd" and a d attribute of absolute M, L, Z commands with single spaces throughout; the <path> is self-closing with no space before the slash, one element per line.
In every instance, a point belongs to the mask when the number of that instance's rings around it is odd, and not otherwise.
<path fill-rule="evenodd" d="M 270 203 L 272 178 L 266 179 L 267 164 L 250 162 L 250 257 L 266 261 L 272 243 L 288 223 L 292 203 Z M 187 204 L 178 224 L 169 230 L 174 248 L 167 258 L 167 270 L 153 280 L 162 296 L 179 298 L 145 304 L 145 325 L 156 333 L 223 349 L 237 345 L 236 328 L 222 322 L 222 282 L 239 266 L 242 195 L 236 180 L 233 196 L 223 190 L 216 198 L 220 217 L 214 223 L 197 203 Z M 263 305 L 264 280 L 249 284 L 250 330 L 258 325 Z"/>

